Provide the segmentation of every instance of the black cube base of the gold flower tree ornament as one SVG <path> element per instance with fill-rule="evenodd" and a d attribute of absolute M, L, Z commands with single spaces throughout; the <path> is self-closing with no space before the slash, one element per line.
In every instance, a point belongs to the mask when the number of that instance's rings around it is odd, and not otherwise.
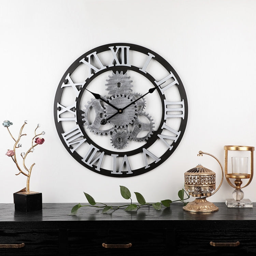
<path fill-rule="evenodd" d="M 32 212 L 42 210 L 42 193 L 26 192 L 14 193 L 14 209 L 20 212 Z"/>

